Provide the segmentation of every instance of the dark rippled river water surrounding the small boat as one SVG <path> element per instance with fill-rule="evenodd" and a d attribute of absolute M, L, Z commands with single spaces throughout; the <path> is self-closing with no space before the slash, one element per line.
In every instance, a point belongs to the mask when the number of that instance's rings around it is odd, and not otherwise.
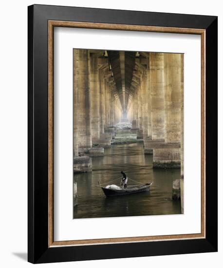
<path fill-rule="evenodd" d="M 113 145 L 105 149 L 104 157 L 92 158 L 93 172 L 75 174 L 77 202 L 74 218 L 123 217 L 141 215 L 180 214 L 180 201 L 173 201 L 172 182 L 180 178 L 180 169 L 152 169 L 152 155 L 144 155 L 143 144 Z M 153 182 L 150 191 L 125 196 L 106 197 L 102 186 L 120 185 L 121 176 L 127 176 L 140 183 Z M 129 185 L 136 184 L 131 180 Z"/>

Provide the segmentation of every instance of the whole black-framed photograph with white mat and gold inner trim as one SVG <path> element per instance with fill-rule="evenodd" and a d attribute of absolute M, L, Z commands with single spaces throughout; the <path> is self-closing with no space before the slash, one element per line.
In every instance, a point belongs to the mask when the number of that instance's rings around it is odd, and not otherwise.
<path fill-rule="evenodd" d="M 28 7 L 28 261 L 217 251 L 217 17 Z"/>

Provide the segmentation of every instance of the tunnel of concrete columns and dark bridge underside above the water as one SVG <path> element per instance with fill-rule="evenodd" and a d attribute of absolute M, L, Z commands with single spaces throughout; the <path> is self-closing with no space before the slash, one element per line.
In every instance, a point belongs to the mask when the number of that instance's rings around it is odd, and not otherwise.
<path fill-rule="evenodd" d="M 154 168 L 183 178 L 183 55 L 74 49 L 74 172 L 91 171 L 122 119 Z"/>

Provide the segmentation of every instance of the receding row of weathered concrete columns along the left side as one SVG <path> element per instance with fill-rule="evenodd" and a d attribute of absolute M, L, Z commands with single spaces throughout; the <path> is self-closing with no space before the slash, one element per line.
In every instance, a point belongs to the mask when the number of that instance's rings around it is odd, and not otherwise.
<path fill-rule="evenodd" d="M 74 172 L 92 170 L 93 156 L 111 147 L 122 111 L 108 58 L 74 49 Z"/>

